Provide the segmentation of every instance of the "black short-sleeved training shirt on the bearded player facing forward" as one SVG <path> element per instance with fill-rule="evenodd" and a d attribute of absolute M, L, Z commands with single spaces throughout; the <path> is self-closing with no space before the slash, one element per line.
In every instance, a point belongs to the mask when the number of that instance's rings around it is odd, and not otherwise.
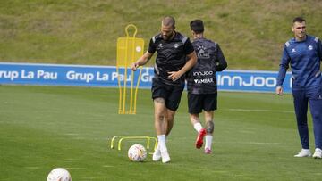
<path fill-rule="evenodd" d="M 151 38 L 148 46 L 148 53 L 155 53 L 156 51 L 155 78 L 162 80 L 167 85 L 182 86 L 184 77 L 173 81 L 168 78 L 168 72 L 181 70 L 186 63 L 186 55 L 194 51 L 189 37 L 184 37 L 181 33 L 175 32 L 173 39 L 165 41 L 162 35 L 158 34 Z"/>

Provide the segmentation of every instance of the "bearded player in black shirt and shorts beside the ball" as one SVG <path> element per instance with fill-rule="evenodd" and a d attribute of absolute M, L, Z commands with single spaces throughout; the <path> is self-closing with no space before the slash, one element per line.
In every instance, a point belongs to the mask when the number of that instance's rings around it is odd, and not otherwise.
<path fill-rule="evenodd" d="M 184 75 L 197 62 L 197 56 L 188 37 L 174 30 L 174 18 L 166 16 L 162 20 L 161 33 L 151 38 L 148 51 L 131 66 L 136 70 L 157 53 L 155 77 L 152 79 L 152 98 L 155 111 L 157 149 L 152 160 L 170 161 L 165 144 L 174 124 L 174 114 L 178 109 L 184 88 Z"/>

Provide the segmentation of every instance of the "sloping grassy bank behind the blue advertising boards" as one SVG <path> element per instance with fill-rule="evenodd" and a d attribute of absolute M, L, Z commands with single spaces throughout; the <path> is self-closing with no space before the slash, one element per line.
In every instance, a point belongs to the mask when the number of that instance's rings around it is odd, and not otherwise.
<path fill-rule="evenodd" d="M 3 0 L 0 62 L 114 65 L 126 25 L 137 25 L 147 47 L 161 18 L 173 15 L 187 36 L 191 20 L 204 20 L 229 69 L 277 70 L 292 19 L 304 16 L 308 33 L 322 37 L 321 9 L 318 0 Z"/>

